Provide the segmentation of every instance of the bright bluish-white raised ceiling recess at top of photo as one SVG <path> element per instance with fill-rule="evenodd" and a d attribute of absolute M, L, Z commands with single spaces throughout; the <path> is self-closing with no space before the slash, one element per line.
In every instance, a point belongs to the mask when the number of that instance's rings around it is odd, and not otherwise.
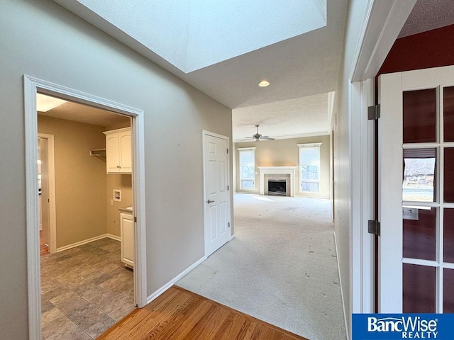
<path fill-rule="evenodd" d="M 77 0 L 188 73 L 326 26 L 326 0 Z"/>

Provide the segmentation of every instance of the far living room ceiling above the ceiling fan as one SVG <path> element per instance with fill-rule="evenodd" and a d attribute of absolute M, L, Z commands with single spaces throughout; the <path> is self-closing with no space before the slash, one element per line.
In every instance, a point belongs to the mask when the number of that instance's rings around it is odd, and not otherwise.
<path fill-rule="evenodd" d="M 255 133 L 276 139 L 328 135 L 334 93 L 275 101 L 233 110 L 233 141 L 241 142 Z"/>

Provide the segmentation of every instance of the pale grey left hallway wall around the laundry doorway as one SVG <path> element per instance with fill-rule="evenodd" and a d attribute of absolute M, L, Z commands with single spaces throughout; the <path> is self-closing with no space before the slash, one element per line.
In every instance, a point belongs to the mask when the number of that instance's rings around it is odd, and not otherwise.
<path fill-rule="evenodd" d="M 23 74 L 145 111 L 148 295 L 204 256 L 201 130 L 231 110 L 53 1 L 0 7 L 0 329 L 28 339 Z"/>

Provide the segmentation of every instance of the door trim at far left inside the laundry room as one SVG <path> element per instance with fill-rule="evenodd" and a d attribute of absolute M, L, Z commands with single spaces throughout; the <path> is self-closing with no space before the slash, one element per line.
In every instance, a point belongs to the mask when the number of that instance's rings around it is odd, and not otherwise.
<path fill-rule="evenodd" d="M 39 133 L 38 137 L 48 140 L 48 183 L 49 183 L 49 252 L 57 251 L 57 210 L 55 207 L 55 137 Z"/>

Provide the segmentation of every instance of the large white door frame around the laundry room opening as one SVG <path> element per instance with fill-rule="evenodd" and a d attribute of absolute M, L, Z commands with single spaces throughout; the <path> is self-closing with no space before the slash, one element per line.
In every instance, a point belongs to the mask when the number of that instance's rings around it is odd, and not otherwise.
<path fill-rule="evenodd" d="M 28 329 L 30 339 L 40 339 L 41 299 L 40 299 L 40 251 L 39 251 L 39 201 L 38 169 L 38 115 L 36 94 L 57 96 L 77 103 L 87 104 L 131 117 L 131 137 L 133 143 L 133 215 L 135 222 L 135 271 L 134 291 L 138 307 L 147 301 L 147 271 L 145 248 L 145 152 L 144 152 L 144 112 L 109 99 L 70 89 L 24 74 L 24 115 L 26 137 L 26 234 L 27 234 L 27 274 L 28 274 Z"/>

